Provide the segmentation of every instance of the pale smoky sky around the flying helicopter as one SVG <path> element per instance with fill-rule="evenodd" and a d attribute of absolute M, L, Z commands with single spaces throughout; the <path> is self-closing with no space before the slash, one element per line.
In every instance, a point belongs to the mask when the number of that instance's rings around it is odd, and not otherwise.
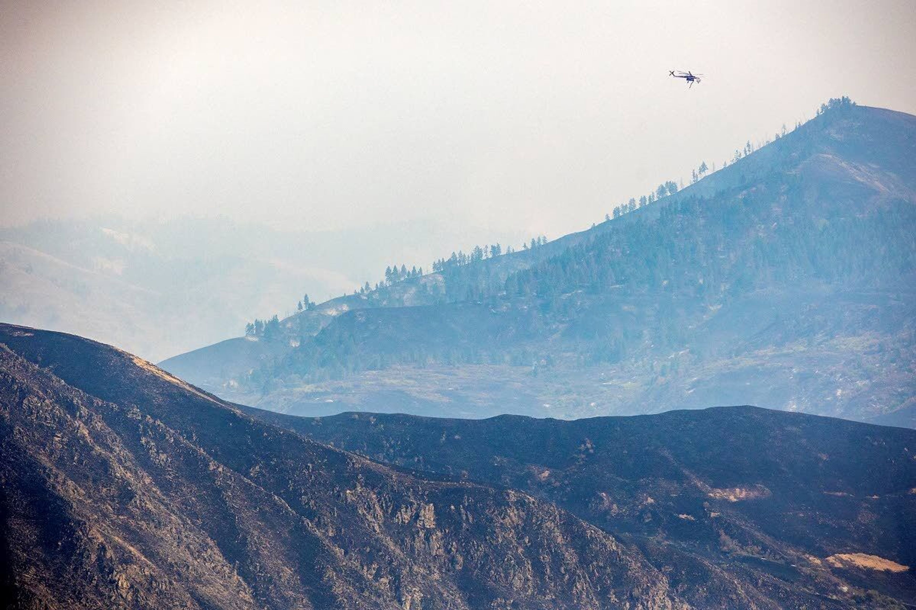
<path fill-rule="evenodd" d="M 913 0 L 2 2 L 0 223 L 557 237 L 829 97 L 916 113 L 914 32 Z"/>

